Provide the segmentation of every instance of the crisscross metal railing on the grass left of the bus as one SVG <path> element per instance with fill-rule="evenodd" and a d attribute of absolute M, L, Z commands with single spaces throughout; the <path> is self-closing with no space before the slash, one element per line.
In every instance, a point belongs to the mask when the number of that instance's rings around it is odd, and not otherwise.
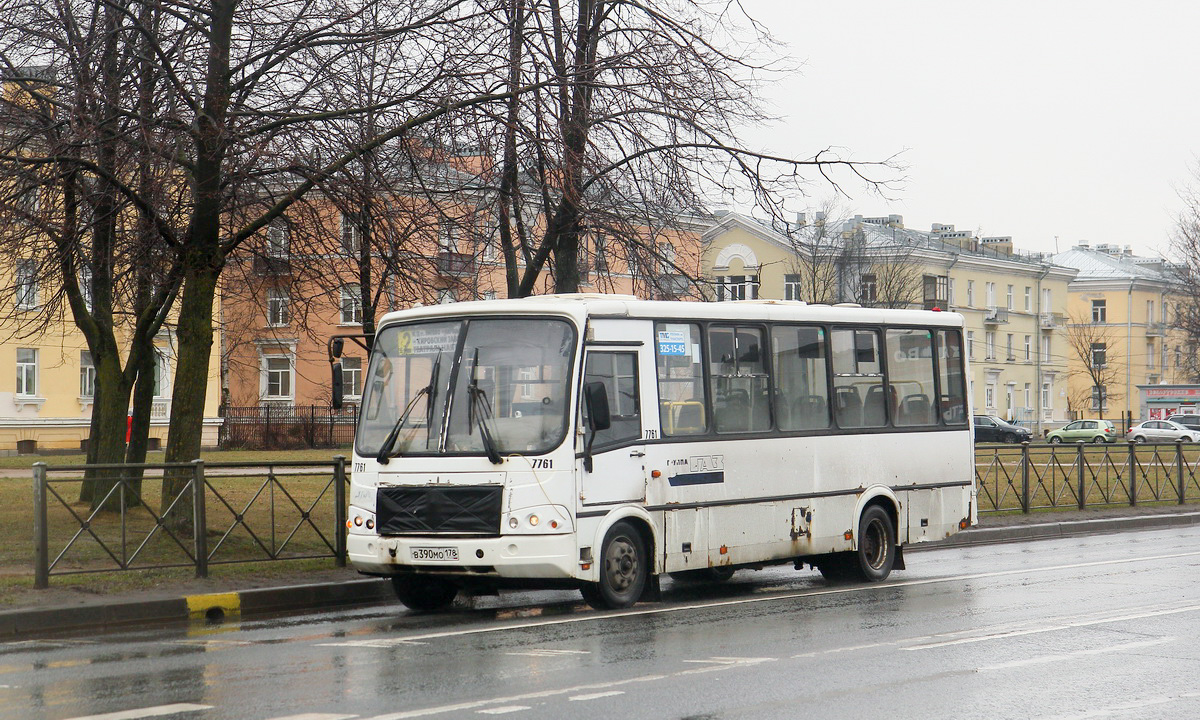
<path fill-rule="evenodd" d="M 164 480 L 168 478 L 169 481 Z M 86 482 L 100 493 L 84 503 Z M 164 482 L 168 492 L 162 492 Z M 52 575 L 332 557 L 346 565 L 346 458 L 34 466 L 34 586 Z M 108 508 L 108 510 L 91 508 Z"/>

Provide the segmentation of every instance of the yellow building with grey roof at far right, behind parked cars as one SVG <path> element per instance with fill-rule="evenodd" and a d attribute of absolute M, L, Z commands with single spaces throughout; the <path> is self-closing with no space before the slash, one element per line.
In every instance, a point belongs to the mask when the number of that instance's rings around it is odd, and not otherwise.
<path fill-rule="evenodd" d="M 1164 260 L 1108 244 L 1079 245 L 1054 259 L 1078 270 L 1067 306 L 1072 409 L 1117 422 L 1147 419 L 1139 385 L 1189 379 L 1180 353 L 1184 337 L 1171 328 L 1181 299 Z"/>

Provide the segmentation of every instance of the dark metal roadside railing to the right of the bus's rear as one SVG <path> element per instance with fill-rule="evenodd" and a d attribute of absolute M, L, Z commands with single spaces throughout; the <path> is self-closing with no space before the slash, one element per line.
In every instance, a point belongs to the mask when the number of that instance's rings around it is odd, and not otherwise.
<path fill-rule="evenodd" d="M 1084 510 L 1200 499 L 1200 446 L 976 446 L 980 512 Z"/>

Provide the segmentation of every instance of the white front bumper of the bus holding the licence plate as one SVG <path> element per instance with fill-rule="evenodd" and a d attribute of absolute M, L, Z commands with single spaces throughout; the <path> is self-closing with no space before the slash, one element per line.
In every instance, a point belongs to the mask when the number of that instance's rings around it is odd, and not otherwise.
<path fill-rule="evenodd" d="M 430 572 L 568 580 L 580 575 L 574 535 L 380 536 L 350 533 L 349 560 L 367 575 Z"/>

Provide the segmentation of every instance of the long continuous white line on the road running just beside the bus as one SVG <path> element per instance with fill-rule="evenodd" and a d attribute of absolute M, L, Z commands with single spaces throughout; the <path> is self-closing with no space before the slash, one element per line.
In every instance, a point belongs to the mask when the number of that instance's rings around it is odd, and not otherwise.
<path fill-rule="evenodd" d="M 425 635 L 413 635 L 409 637 L 390 637 L 376 640 L 350 640 L 342 642 L 318 643 L 318 647 L 326 648 L 390 648 L 400 644 L 424 644 L 419 641 L 442 640 L 446 637 L 463 637 L 467 635 L 482 635 L 485 632 L 504 632 L 509 630 L 526 630 L 529 628 L 548 628 L 552 625 L 569 625 L 574 623 L 595 623 L 611 620 L 614 618 L 646 617 L 655 614 L 668 614 L 677 612 L 695 612 L 697 610 L 709 610 L 716 607 L 731 607 L 736 605 L 750 605 L 754 602 L 778 602 L 780 600 L 797 600 L 800 598 L 820 598 L 822 595 L 841 595 L 846 593 L 874 592 L 898 587 L 918 587 L 926 584 L 964 582 L 968 580 L 985 580 L 990 577 L 1009 577 L 1014 575 L 1032 575 L 1037 572 L 1060 572 L 1062 570 L 1079 570 L 1084 568 L 1102 568 L 1105 565 L 1126 565 L 1130 563 L 1147 563 L 1152 560 L 1171 560 L 1178 558 L 1193 558 L 1200 556 L 1200 551 L 1178 552 L 1157 556 L 1140 556 L 1135 558 L 1116 558 L 1093 560 L 1088 563 L 1069 563 L 1064 565 L 1046 565 L 1044 568 L 1022 568 L 1019 570 L 996 570 L 994 572 L 971 572 L 967 575 L 954 575 L 949 577 L 931 577 L 928 580 L 908 580 L 899 582 L 881 582 L 866 586 L 854 586 L 845 588 L 823 588 L 820 590 L 804 590 L 800 593 L 787 593 L 784 595 L 766 595 L 761 598 L 738 598 L 737 600 L 718 600 L 713 602 L 696 602 L 691 605 L 676 605 L 671 607 L 648 607 L 638 610 L 625 610 L 619 612 L 590 613 L 566 618 L 547 618 L 532 620 L 528 623 L 512 623 L 505 625 L 492 625 L 488 628 L 468 628 L 464 630 L 444 630 L 439 632 L 427 632 Z"/>

